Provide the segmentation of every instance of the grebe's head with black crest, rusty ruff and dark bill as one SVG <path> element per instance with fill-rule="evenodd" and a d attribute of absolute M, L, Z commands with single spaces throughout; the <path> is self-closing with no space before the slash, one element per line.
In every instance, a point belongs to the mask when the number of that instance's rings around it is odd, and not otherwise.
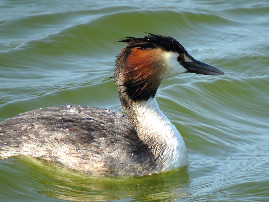
<path fill-rule="evenodd" d="M 155 96 L 162 79 L 186 72 L 224 75 L 219 69 L 195 60 L 172 37 L 148 33 L 118 42 L 128 43 L 116 60 L 113 76 L 120 98 L 124 93 L 133 101 L 146 101 Z"/>

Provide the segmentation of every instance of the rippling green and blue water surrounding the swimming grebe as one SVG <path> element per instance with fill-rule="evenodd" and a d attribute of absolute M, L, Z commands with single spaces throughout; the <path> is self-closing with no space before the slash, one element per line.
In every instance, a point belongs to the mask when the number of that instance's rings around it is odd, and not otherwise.
<path fill-rule="evenodd" d="M 0 161 L 0 201 L 269 201 L 269 2 L 0 1 L 0 121 L 41 107 L 122 110 L 123 37 L 169 35 L 224 76 L 183 74 L 157 101 L 189 165 L 97 177 L 25 156 Z M 0 137 L 1 138 L 1 137 Z"/>

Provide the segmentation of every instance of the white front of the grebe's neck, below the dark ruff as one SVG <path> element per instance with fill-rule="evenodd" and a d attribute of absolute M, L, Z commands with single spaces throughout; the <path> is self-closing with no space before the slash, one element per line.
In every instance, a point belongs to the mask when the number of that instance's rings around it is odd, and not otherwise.
<path fill-rule="evenodd" d="M 160 110 L 155 97 L 135 103 L 135 128 L 140 139 L 149 145 L 158 159 L 158 170 L 179 168 L 188 163 L 188 155 L 182 136 Z"/>

